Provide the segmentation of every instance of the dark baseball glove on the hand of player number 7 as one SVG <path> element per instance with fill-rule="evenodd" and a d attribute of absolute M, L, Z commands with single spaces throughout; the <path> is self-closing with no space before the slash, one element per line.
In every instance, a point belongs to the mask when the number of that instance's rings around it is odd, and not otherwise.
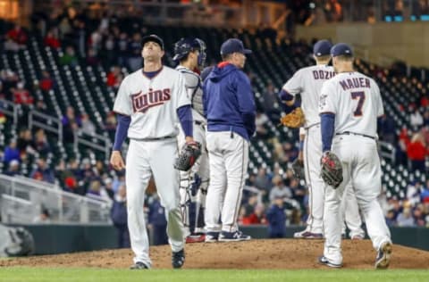
<path fill-rule="evenodd" d="M 334 189 L 339 187 L 342 182 L 342 166 L 337 155 L 329 151 L 325 152 L 320 163 L 322 165 L 320 176 L 324 179 L 324 183 Z"/>

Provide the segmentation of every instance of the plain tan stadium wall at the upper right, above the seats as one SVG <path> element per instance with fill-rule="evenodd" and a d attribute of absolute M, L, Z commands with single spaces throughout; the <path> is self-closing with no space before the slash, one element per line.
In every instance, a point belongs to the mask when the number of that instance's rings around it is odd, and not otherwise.
<path fill-rule="evenodd" d="M 355 47 L 357 57 L 382 66 L 400 60 L 429 67 L 429 24 L 419 22 L 338 23 L 297 27 L 297 38 L 329 38 Z"/>

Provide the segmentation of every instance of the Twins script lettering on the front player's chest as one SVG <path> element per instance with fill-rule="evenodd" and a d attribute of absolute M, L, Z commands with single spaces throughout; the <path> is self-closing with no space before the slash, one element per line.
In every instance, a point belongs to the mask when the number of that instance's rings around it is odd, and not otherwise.
<path fill-rule="evenodd" d="M 171 99 L 171 89 L 165 88 L 163 90 L 149 89 L 148 93 L 141 91 L 131 95 L 132 109 L 134 112 L 146 112 L 147 109 L 157 105 L 164 104 Z"/>

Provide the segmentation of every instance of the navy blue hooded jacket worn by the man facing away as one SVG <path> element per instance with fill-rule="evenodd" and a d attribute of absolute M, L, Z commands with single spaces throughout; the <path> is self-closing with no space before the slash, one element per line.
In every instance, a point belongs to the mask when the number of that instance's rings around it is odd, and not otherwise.
<path fill-rule="evenodd" d="M 233 131 L 249 140 L 255 133 L 256 107 L 250 81 L 231 63 L 214 67 L 203 87 L 208 131 Z"/>

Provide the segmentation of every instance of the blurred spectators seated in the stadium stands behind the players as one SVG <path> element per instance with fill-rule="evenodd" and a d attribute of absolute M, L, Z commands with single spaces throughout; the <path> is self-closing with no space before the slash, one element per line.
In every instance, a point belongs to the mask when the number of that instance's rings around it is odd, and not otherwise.
<path fill-rule="evenodd" d="M 335 4 L 335 1 L 332 1 Z M 123 20 L 123 19 L 122 19 Z M 46 47 L 61 49 L 60 64 L 77 65 L 84 62 L 88 65 L 102 65 L 107 71 L 105 84 L 116 92 L 123 77 L 130 71 L 139 68 L 140 39 L 146 29 L 135 21 L 122 27 L 123 21 L 114 16 L 103 14 L 99 19 L 88 18 L 85 12 L 68 7 L 63 12 L 54 12 L 49 17 L 38 14 L 33 17 L 36 32 L 43 37 Z M 6 52 L 19 52 L 26 47 L 28 31 L 19 26 L 10 29 L 4 36 L 3 49 Z M 294 52 L 307 52 L 300 46 Z M 286 79 L 286 78 L 285 78 Z M 42 71 L 38 81 L 25 82 L 14 70 L 0 70 L 0 96 L 14 104 L 22 104 L 49 114 L 44 101 L 37 100 L 33 94 L 35 87 L 48 92 L 56 87 L 49 71 Z M 293 176 L 289 169 L 299 151 L 298 146 L 290 142 L 281 142 L 265 128 L 267 120 L 278 120 L 281 115 L 276 93 L 278 88 L 273 83 L 266 85 L 264 104 L 257 112 L 257 140 L 262 140 L 273 147 L 273 170 L 262 167 L 257 174 L 250 174 L 247 180 L 243 204 L 240 209 L 240 223 L 265 224 L 270 227 L 270 236 L 284 236 L 282 224 L 304 224 L 307 220 L 308 195 L 305 183 Z M 429 155 L 429 103 L 422 97 L 420 104 L 404 105 L 403 111 L 409 111 L 411 129 L 400 129 L 386 115 L 381 120 L 380 138 L 397 147 L 396 162 L 409 166 L 411 170 L 427 171 L 425 159 Z M 52 114 L 52 112 L 50 113 Z M 72 145 L 76 132 L 94 133 L 96 125 L 88 118 L 86 112 L 75 112 L 68 107 L 62 119 L 63 143 Z M 0 119 L 0 123 L 2 119 Z M 5 121 L 4 121 L 5 122 Z M 3 122 L 3 123 L 4 123 Z M 105 128 L 111 138 L 114 137 L 116 118 L 114 113 L 107 115 Z M 112 215 L 114 224 L 123 229 L 125 180 L 124 174 L 114 172 L 105 162 L 96 159 L 54 160 L 54 148 L 48 142 L 43 129 L 27 129 L 19 125 L 16 137 L 4 145 L 4 173 L 10 176 L 25 175 L 30 178 L 57 183 L 64 191 L 87 195 L 113 203 Z M 408 163 L 409 162 L 409 163 Z M 429 225 L 429 181 L 410 183 L 406 187 L 406 197 L 384 198 L 383 208 L 391 226 L 428 226 Z M 249 191 L 258 191 L 258 193 Z M 149 223 L 154 232 L 164 226 L 163 217 L 159 215 L 159 200 L 150 197 L 147 202 Z M 129 244 L 124 234 L 120 245 Z M 127 243 L 128 242 L 128 243 Z M 164 241 L 163 241 L 164 242 Z M 161 244 L 161 243 L 160 243 Z"/>

